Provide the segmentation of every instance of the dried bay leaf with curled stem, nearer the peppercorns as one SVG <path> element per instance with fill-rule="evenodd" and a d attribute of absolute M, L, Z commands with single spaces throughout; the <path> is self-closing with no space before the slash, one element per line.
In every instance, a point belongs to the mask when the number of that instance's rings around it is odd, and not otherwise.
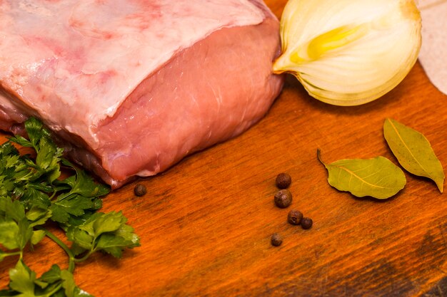
<path fill-rule="evenodd" d="M 339 191 L 351 192 L 357 197 L 371 196 L 386 199 L 394 196 L 406 184 L 405 174 L 386 157 L 372 159 L 343 159 L 326 164 L 328 182 Z"/>

